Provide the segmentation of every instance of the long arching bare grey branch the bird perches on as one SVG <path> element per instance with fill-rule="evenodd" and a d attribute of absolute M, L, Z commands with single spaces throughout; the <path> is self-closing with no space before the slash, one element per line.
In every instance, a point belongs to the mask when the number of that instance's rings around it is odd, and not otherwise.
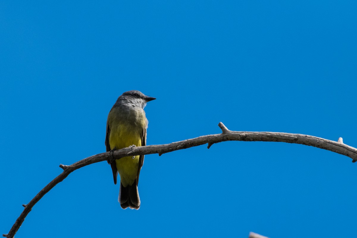
<path fill-rule="evenodd" d="M 15 233 L 20 228 L 22 222 L 24 222 L 25 217 L 31 211 L 32 207 L 47 193 L 49 192 L 57 183 L 65 179 L 71 172 L 84 167 L 86 165 L 105 161 L 108 158 L 111 160 L 120 159 L 125 156 L 136 156 L 136 155 L 149 155 L 156 154 L 162 155 L 164 153 L 182 150 L 190 148 L 193 146 L 200 146 L 208 143 L 207 148 L 210 148 L 213 144 L 222 141 L 273 141 L 273 142 L 287 142 L 296 143 L 307 146 L 314 146 L 324 150 L 329 150 L 332 152 L 339 153 L 341 155 L 348 156 L 352 158 L 352 162 L 357 161 L 357 149 L 348 146 L 342 142 L 342 138 L 338 138 L 338 141 L 330 141 L 323 138 L 302 135 L 302 134 L 292 134 L 284 132 L 248 132 L 248 131 L 230 131 L 227 129 L 222 122 L 218 124 L 221 128 L 221 134 L 200 136 L 193 139 L 188 139 L 184 141 L 172 142 L 166 145 L 152 145 L 152 146 L 138 146 L 132 148 L 122 148 L 120 150 L 114 151 L 114 153 L 105 152 L 97 155 L 90 156 L 88 158 L 82 159 L 69 166 L 60 164 L 63 172 L 53 179 L 49 184 L 46 185 L 37 195 L 26 205 L 24 211 L 17 218 L 15 224 L 10 229 L 8 234 L 3 234 L 2 236 L 7 238 L 13 238 Z"/>

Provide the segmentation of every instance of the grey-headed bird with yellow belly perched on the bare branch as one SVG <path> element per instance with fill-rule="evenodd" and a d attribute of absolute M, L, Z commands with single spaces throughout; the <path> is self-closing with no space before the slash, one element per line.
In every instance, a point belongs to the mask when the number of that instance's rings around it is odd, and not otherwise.
<path fill-rule="evenodd" d="M 105 146 L 107 151 L 119 150 L 130 146 L 146 145 L 147 119 L 144 107 L 155 97 L 145 96 L 142 92 L 132 90 L 123 93 L 109 112 Z M 139 209 L 140 197 L 137 191 L 139 173 L 144 163 L 144 155 L 128 156 L 108 163 L 113 171 L 114 184 L 117 172 L 120 175 L 119 198 L 123 209 Z"/>

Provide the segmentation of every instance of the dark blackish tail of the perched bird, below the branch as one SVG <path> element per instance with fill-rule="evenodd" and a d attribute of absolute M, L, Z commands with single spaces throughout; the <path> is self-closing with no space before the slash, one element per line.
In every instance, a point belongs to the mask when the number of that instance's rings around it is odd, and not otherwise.
<path fill-rule="evenodd" d="M 120 206 L 123 209 L 139 209 L 140 208 L 140 197 L 139 191 L 137 191 L 136 180 L 132 185 L 124 187 L 120 182 L 119 198 Z"/>

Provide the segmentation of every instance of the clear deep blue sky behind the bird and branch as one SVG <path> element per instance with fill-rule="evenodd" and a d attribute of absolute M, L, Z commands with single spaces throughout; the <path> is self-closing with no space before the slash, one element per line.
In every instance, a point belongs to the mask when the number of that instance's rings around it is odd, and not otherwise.
<path fill-rule="evenodd" d="M 147 144 L 230 130 L 357 147 L 356 1 L 1 1 L 0 233 L 62 169 L 105 152 L 140 90 Z M 223 142 L 145 156 L 139 211 L 106 162 L 81 168 L 21 237 L 356 237 L 357 163 L 314 147 Z M 227 198 L 225 198 L 227 197 Z"/>

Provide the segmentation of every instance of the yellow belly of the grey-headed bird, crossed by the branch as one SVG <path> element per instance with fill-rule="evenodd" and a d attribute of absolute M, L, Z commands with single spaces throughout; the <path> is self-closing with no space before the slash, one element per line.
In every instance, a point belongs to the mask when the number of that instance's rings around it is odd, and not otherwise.
<path fill-rule="evenodd" d="M 141 132 L 123 124 L 112 125 L 110 128 L 109 144 L 111 150 L 114 147 L 116 150 L 119 150 L 131 145 L 141 146 Z M 120 175 L 120 182 L 123 186 L 126 187 L 133 184 L 139 169 L 139 156 L 135 156 L 134 159 L 131 156 L 123 157 L 117 159 L 115 162 Z"/>

